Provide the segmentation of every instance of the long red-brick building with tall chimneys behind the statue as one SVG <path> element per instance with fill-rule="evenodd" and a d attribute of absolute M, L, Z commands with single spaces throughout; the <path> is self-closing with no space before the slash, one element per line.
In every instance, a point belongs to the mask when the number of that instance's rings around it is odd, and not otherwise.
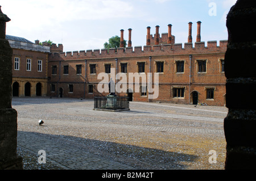
<path fill-rule="evenodd" d="M 175 43 L 171 24 L 168 33 L 163 33 L 162 37 L 159 26 L 156 26 L 154 37 L 150 34 L 151 28 L 147 27 L 143 49 L 131 46 L 131 29 L 128 47 L 122 46 L 121 30 L 121 46 L 117 50 L 61 52 L 63 47 L 55 45 L 55 52 L 49 53 L 48 57 L 48 95 L 72 98 L 108 95 L 108 91 L 102 92 L 99 87 L 108 87 L 112 77 L 115 83 L 122 82 L 122 91 L 116 94 L 129 96 L 131 101 L 224 106 L 224 56 L 228 41 L 222 40 L 218 46 L 217 41 L 208 41 L 205 46 L 201 41 L 201 22 L 197 22 L 197 37 L 193 44 L 192 23 L 188 24 L 188 42 L 184 43 L 184 48 Z M 141 78 L 146 77 L 147 84 L 131 83 L 135 73 Z M 148 79 L 149 75 L 151 79 Z M 155 77 L 159 78 L 158 82 L 155 82 Z M 159 92 L 157 98 L 152 99 L 154 86 Z"/>

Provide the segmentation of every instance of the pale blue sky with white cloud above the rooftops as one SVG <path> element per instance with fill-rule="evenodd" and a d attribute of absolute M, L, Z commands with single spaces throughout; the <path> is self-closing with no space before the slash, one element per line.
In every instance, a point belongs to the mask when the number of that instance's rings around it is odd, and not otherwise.
<path fill-rule="evenodd" d="M 197 21 L 201 21 L 201 41 L 228 40 L 226 15 L 236 0 L 0 0 L 1 10 L 11 21 L 6 35 L 32 41 L 51 40 L 63 44 L 64 52 L 104 49 L 110 37 L 128 40 L 132 47 L 146 45 L 147 27 L 168 32 L 172 24 L 175 43 L 188 41 L 192 22 L 192 42 Z"/>

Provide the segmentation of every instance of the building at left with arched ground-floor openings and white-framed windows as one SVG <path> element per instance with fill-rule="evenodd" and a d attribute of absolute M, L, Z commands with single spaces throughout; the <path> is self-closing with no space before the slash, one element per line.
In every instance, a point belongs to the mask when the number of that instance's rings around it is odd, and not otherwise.
<path fill-rule="evenodd" d="M 10 35 L 6 39 L 13 49 L 13 96 L 46 96 L 49 45 Z"/>

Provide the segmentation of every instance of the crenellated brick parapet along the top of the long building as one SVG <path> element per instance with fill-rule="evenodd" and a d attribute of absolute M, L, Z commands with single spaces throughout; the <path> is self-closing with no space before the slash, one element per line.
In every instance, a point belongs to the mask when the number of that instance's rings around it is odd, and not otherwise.
<path fill-rule="evenodd" d="M 94 58 L 115 58 L 115 57 L 143 57 L 143 56 L 167 56 L 178 54 L 202 54 L 202 53 L 225 53 L 228 40 L 204 41 L 193 43 L 176 43 L 163 45 L 145 45 L 126 48 L 89 49 L 73 52 L 50 53 L 49 61 L 59 60 L 85 60 Z"/>

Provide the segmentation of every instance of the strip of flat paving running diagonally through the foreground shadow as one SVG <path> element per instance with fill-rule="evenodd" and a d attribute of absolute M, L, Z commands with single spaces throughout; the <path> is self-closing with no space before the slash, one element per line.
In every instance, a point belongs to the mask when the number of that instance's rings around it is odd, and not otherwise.
<path fill-rule="evenodd" d="M 44 134 L 18 132 L 18 146 L 26 151 L 37 154 L 39 150 L 46 151 L 46 162 L 50 161 L 65 170 L 132 170 L 131 166 L 115 162 L 100 155 L 89 153 L 86 148 L 77 148 L 72 142 L 51 140 Z"/>

